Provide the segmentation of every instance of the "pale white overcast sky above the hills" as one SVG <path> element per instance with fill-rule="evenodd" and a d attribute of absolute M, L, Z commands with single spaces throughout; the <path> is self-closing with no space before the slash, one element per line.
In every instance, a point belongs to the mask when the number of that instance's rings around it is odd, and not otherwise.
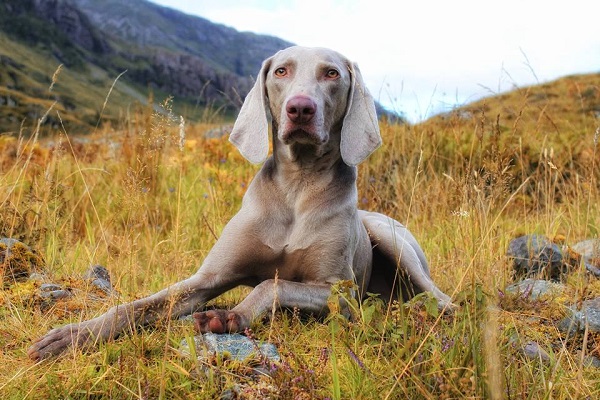
<path fill-rule="evenodd" d="M 515 87 L 600 72 L 595 0 L 152 0 L 239 31 L 328 47 L 418 122 Z"/>

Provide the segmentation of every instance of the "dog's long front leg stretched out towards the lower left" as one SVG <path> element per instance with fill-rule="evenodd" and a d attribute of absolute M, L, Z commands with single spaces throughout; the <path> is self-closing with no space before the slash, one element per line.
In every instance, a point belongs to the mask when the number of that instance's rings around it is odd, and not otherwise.
<path fill-rule="evenodd" d="M 190 278 L 143 299 L 112 307 L 94 319 L 52 329 L 33 343 L 28 350 L 29 357 L 37 361 L 60 354 L 68 347 L 89 347 L 116 338 L 160 318 L 190 314 L 207 301 L 244 283 L 248 278 L 245 266 L 248 260 L 256 258 L 259 248 L 244 227 L 252 231 L 244 214 L 236 214 L 202 267 Z M 248 237 L 246 246 L 239 245 L 240 236 Z"/>

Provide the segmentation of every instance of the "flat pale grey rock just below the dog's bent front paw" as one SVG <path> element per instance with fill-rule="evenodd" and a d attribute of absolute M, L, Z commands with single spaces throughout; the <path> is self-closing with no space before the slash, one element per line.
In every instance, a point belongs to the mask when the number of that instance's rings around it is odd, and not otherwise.
<path fill-rule="evenodd" d="M 258 343 L 239 333 L 216 334 L 204 333 L 194 336 L 196 355 L 198 359 L 206 358 L 206 353 L 219 354 L 234 360 L 244 361 L 251 355 L 259 355 L 270 361 L 279 362 L 281 357 L 275 345 L 271 343 Z M 191 354 L 186 339 L 181 341 L 181 353 L 189 356 Z"/>

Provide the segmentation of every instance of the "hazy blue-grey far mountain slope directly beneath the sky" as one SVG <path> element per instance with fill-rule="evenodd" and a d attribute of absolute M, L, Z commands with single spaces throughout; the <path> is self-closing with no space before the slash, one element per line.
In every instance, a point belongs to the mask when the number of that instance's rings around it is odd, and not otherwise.
<path fill-rule="evenodd" d="M 240 76 L 255 75 L 262 60 L 291 45 L 149 2 L 140 7 L 138 0 L 74 1 L 105 35 L 144 50 L 161 48 L 189 54 Z"/>

